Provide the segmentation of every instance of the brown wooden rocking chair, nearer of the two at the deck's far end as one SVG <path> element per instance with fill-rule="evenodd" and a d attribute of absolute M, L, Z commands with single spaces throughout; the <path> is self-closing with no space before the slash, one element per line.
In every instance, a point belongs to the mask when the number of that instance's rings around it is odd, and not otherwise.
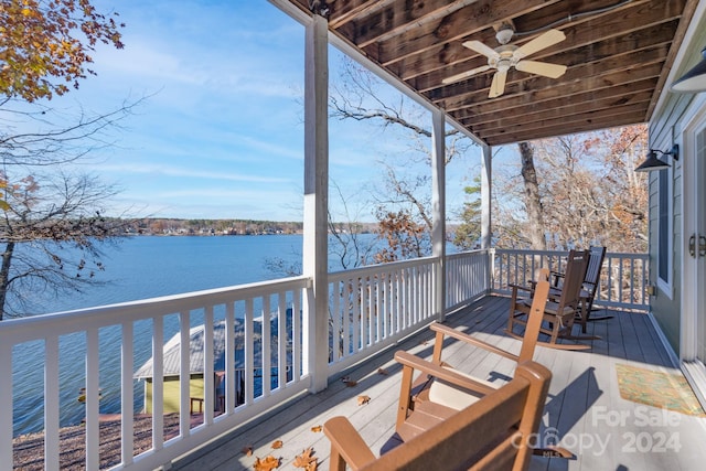
<path fill-rule="evenodd" d="M 575 336 L 571 333 L 574 321 L 577 315 L 581 315 L 581 283 L 586 274 L 588 264 L 588 250 L 571 250 L 569 260 L 566 264 L 566 272 L 564 283 L 560 291 L 557 291 L 558 298 L 547 301 L 543 319 L 548 327 L 542 327 L 541 333 L 549 336 L 549 342 L 537 342 L 537 344 L 563 350 L 587 350 L 590 345 L 582 343 L 558 343 L 559 339 L 568 340 L 592 340 L 595 336 Z M 518 297 L 518 291 L 524 289 L 532 292 L 532 287 L 521 287 L 512 285 L 512 297 L 510 302 L 510 314 L 507 320 L 506 333 L 516 339 L 523 335 L 517 334 L 515 325 L 527 325 L 530 317 L 530 301 Z M 552 296 L 550 296 L 552 297 Z M 525 333 L 526 334 L 526 333 Z"/>

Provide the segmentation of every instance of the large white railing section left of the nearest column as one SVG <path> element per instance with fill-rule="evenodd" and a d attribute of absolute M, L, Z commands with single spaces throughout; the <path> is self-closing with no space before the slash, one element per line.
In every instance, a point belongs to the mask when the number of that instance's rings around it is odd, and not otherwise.
<path fill-rule="evenodd" d="M 124 304 L 86 309 L 81 311 L 7 320 L 0 323 L 0 404 L 13 410 L 15 398 L 26 394 L 40 394 L 38 400 L 44 409 L 44 462 L 46 470 L 60 469 L 60 410 L 76 407 L 78 389 L 85 387 L 85 469 L 99 468 L 99 397 L 119 395 L 121 419 L 121 454 L 115 464 L 120 469 L 154 469 L 173 458 L 191 451 L 220 433 L 266 411 L 310 386 L 310 375 L 303 364 L 302 299 L 310 282 L 306 278 L 245 285 L 236 288 L 215 289 L 170 296 Z M 236 328 L 236 318 L 240 321 Z M 261 322 L 270 318 L 271 322 Z M 213 324 L 225 321 L 225 351 L 234 352 L 238 339 L 244 344 L 245 404 L 236 405 L 235 355 L 225 355 L 225 411 L 217 417 L 214 382 L 203 383 L 203 418 L 192 425 L 190 414 L 190 376 L 180 376 L 179 430 L 170 438 L 164 429 L 163 398 L 164 371 L 163 345 L 165 333 L 180 336 L 180 371 L 190 370 L 191 328 L 204 325 L 203 345 L 213 345 Z M 277 332 L 272 332 L 272 328 Z M 117 333 L 116 333 L 117 330 Z M 110 332 L 108 332 L 110 331 Z M 106 345 L 99 339 L 110 333 L 114 341 Z M 286 334 L 285 334 L 286 333 Z M 67 336 L 73 336 L 73 350 L 62 347 Z M 28 346 L 30 345 L 30 346 Z M 33 349 L 36 358 L 31 371 L 13 372 L 13 351 Z M 39 353 L 39 354 L 38 354 Z M 133 424 L 136 418 L 137 358 L 152 357 L 152 449 L 135 452 Z M 105 361 L 104 361 L 105 360 Z M 72 377 L 60 376 L 66 363 L 85 364 L 85 374 L 77 384 Z M 17 358 L 14 358 L 17 363 Z M 23 362 L 26 365 L 26 362 Z M 110 364 L 115 365 L 113 371 Z M 259 368 L 271 364 L 272 368 Z M 117 366 L 117 367 L 116 367 Z M 81 368 L 81 366 L 79 366 Z M 255 371 L 261 371 L 261 379 L 255 381 Z M 289 378 L 288 370 L 291 371 Z M 279 372 L 278 377 L 270 376 Z M 14 374 L 13 374 L 14 373 Z M 33 381 L 26 381 L 34 374 Z M 214 350 L 203 350 L 203 377 L 214 377 Z M 113 381 L 111 381 L 113 378 Z M 35 382 L 43 384 L 36 386 Z M 259 384 L 258 390 L 255 384 Z M 71 390 L 72 400 L 65 392 Z M 116 389 L 116 390 L 113 390 Z M 138 389 L 139 390 L 139 389 Z M 6 409 L 7 410 L 7 409 Z M 13 416 L 0 414 L 0 470 L 13 469 Z"/>

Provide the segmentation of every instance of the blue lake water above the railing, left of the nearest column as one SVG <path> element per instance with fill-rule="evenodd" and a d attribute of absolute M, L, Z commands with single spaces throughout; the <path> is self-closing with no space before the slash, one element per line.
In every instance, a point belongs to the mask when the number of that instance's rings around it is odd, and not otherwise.
<path fill-rule="evenodd" d="M 302 236 L 135 236 L 106 246 L 105 286 L 36 300 L 38 312 L 92 308 L 158 296 L 281 278 L 267 259 L 301 259 Z"/>

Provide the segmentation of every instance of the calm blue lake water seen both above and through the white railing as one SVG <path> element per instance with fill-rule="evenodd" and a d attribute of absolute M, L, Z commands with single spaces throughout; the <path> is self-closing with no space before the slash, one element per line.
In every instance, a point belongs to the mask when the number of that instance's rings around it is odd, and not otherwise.
<path fill-rule="evenodd" d="M 373 240 L 373 236 L 368 236 Z M 116 302 L 154 298 L 203 289 L 243 285 L 282 278 L 268 269 L 267 261 L 281 259 L 285 265 L 301 260 L 302 236 L 136 236 L 106 247 L 103 261 L 106 271 L 98 274 L 104 286 L 86 293 L 63 296 L 60 299 L 33 299 L 36 312 L 58 312 Z M 335 257 L 330 269 L 342 267 Z M 175 318 L 175 317 L 174 317 Z M 192 319 L 192 323 L 201 323 Z M 165 322 L 165 339 L 176 332 L 175 319 Z M 135 367 L 138 368 L 150 352 L 151 323 L 135 325 Z M 100 399 L 101 414 L 120 411 L 120 329 L 105 328 L 100 335 Z M 43 428 L 43 358 L 42 342 L 18 345 L 13 350 L 14 435 Z M 61 426 L 78 424 L 84 406 L 77 400 L 85 377 L 85 336 L 65 335 L 60 340 Z M 141 409 L 141 383 L 135 388 L 136 411 Z"/>

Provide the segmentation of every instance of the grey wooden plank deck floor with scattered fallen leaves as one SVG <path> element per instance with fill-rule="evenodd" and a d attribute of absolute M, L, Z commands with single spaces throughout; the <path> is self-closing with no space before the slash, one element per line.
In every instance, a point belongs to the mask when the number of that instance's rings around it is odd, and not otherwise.
<path fill-rule="evenodd" d="M 454 313 L 447 323 L 507 350 L 518 352 L 520 342 L 503 334 L 509 300 L 488 297 Z M 700 470 L 706 463 L 706 419 L 665 411 L 621 398 L 616 365 L 678 374 L 663 349 L 650 319 L 641 313 L 612 312 L 610 320 L 589 322 L 589 333 L 600 335 L 589 351 L 538 347 L 535 360 L 553 372 L 549 397 L 539 432 L 543 443 L 560 445 L 576 458 L 533 457 L 532 470 Z M 578 330 L 578 328 L 576 328 Z M 429 357 L 432 335 L 428 330 L 407 339 L 394 350 Z M 234 430 L 203 449 L 183 457 L 172 469 L 253 469 L 256 457 L 281 459 L 279 469 L 293 470 L 293 459 L 312 447 L 319 470 L 329 469 L 330 443 L 312 428 L 333 416 L 347 417 L 366 443 L 377 452 L 393 435 L 399 393 L 400 368 L 394 350 L 346 372 L 357 384 L 347 387 L 332 381 L 329 388 L 306 395 L 279 411 Z M 474 376 L 503 382 L 513 363 L 484 351 L 449 343 L 445 360 Z M 383 368 L 386 374 L 381 374 Z M 645 389 L 650 384 L 644 384 Z M 357 396 L 370 396 L 366 405 Z M 275 440 L 282 448 L 271 449 Z M 253 454 L 243 449 L 252 446 Z"/>

